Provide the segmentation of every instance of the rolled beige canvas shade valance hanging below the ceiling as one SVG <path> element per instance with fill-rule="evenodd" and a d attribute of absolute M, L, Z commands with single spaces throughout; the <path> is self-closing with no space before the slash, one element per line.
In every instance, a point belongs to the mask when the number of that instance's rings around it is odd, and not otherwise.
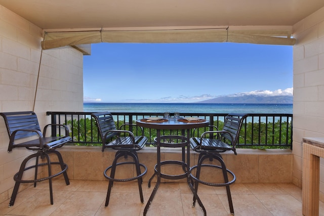
<path fill-rule="evenodd" d="M 188 42 L 236 42 L 263 45 L 289 45 L 296 43 L 290 38 L 290 30 L 229 30 L 186 29 L 186 30 L 97 30 L 46 32 L 42 41 L 44 50 L 96 44 L 99 42 L 128 43 L 188 43 Z"/>

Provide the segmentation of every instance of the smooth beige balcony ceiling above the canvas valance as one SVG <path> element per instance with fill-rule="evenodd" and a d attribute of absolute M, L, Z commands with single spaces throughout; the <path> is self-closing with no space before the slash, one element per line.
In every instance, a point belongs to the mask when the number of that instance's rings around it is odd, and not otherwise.
<path fill-rule="evenodd" d="M 324 0 L 0 0 L 42 29 L 292 26 Z"/>

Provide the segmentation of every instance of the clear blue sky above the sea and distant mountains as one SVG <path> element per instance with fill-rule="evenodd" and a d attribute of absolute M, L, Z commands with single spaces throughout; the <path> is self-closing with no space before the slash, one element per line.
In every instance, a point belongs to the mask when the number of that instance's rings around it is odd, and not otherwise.
<path fill-rule="evenodd" d="M 85 102 L 190 103 L 292 87 L 292 46 L 101 43 L 84 56 Z"/>

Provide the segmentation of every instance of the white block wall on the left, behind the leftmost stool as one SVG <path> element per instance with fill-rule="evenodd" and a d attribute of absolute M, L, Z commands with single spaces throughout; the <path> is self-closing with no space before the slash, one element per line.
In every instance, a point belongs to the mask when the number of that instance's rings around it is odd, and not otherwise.
<path fill-rule="evenodd" d="M 83 111 L 83 53 L 70 47 L 42 52 L 42 38 L 41 28 L 0 5 L 0 112 L 33 110 L 44 126 L 47 111 Z M 13 176 L 32 153 L 8 153 L 8 143 L 0 117 L 0 202 L 11 196 Z"/>

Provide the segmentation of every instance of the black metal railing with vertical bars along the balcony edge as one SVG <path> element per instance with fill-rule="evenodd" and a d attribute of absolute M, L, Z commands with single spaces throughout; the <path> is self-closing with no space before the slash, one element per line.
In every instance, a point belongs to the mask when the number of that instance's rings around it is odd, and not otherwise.
<path fill-rule="evenodd" d="M 163 113 L 126 113 L 112 112 L 116 126 L 119 127 L 124 122 L 133 122 L 148 116 L 163 116 Z M 171 113 L 172 114 L 172 113 Z M 101 145 L 98 136 L 98 128 L 95 120 L 91 117 L 91 112 L 47 112 L 51 115 L 52 123 L 61 123 L 69 126 L 72 143 L 74 145 Z M 200 136 L 205 131 L 215 130 L 212 126 L 222 129 L 226 113 L 181 113 L 181 116 L 201 117 L 209 120 L 210 127 L 199 128 L 191 131 L 191 136 Z M 52 134 L 61 134 L 55 131 Z M 133 131 L 132 126 L 128 128 Z M 62 132 L 63 133 L 63 132 Z M 134 132 L 137 133 L 137 132 Z M 145 136 L 148 137 L 148 145 L 154 144 L 156 130 L 144 128 Z M 180 131 L 164 130 L 161 134 L 181 134 Z M 246 148 L 292 148 L 293 137 L 293 115 L 292 114 L 260 114 L 251 113 L 245 119 L 240 131 L 237 147 Z"/>

